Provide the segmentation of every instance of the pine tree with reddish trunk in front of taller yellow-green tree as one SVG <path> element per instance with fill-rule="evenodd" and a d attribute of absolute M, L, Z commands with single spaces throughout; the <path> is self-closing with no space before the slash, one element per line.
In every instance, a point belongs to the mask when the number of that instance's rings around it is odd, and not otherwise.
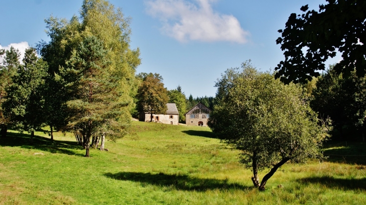
<path fill-rule="evenodd" d="M 89 156 L 91 136 L 98 133 L 105 136 L 104 126 L 123 129 L 124 124 L 119 117 L 125 114 L 122 107 L 129 101 L 121 101 L 119 76 L 108 70 L 111 64 L 107 58 L 108 50 L 97 37 L 85 36 L 72 57 L 67 61 L 67 68 L 62 69 L 67 90 L 72 99 L 67 107 L 72 114 L 68 118 L 68 126 L 78 130 L 86 137 L 86 153 Z M 113 132 L 113 135 L 124 135 L 124 132 Z M 95 140 L 92 140 L 94 142 Z"/>

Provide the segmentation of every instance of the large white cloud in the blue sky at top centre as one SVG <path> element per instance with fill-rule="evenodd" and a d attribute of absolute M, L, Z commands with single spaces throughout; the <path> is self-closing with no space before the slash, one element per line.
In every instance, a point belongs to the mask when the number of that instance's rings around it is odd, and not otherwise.
<path fill-rule="evenodd" d="M 246 43 L 250 34 L 233 15 L 212 9 L 214 0 L 148 0 L 147 12 L 163 23 L 162 31 L 181 41 L 232 41 Z"/>

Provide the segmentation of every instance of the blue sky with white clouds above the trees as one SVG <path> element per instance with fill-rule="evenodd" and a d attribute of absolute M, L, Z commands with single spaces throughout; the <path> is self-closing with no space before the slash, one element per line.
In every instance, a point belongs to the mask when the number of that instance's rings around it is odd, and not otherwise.
<path fill-rule="evenodd" d="M 49 41 L 44 20 L 79 15 L 83 0 L 0 0 L 0 48 L 25 50 Z M 284 60 L 275 40 L 291 13 L 325 0 L 109 0 L 131 17 L 130 46 L 140 49 L 136 73 L 159 73 L 167 89 L 215 96 L 227 68 L 251 59 L 260 71 Z M 339 54 L 326 61 L 340 60 Z"/>

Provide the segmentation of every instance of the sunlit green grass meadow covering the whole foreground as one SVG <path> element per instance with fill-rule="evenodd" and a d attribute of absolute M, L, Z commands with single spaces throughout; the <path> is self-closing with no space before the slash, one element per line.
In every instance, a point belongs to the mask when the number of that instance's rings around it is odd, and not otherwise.
<path fill-rule="evenodd" d="M 239 152 L 208 127 L 133 122 L 133 129 L 89 158 L 71 134 L 51 141 L 37 132 L 29 145 L 28 134 L 8 133 L 0 138 L 0 204 L 366 204 L 360 157 L 285 164 L 260 192 Z M 362 143 L 324 149 L 364 152 Z"/>

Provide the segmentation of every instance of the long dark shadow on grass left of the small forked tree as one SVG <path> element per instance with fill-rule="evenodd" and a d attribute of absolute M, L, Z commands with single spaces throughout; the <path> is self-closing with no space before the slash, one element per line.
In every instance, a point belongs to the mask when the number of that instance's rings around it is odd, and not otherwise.
<path fill-rule="evenodd" d="M 136 181 L 142 184 L 173 188 L 176 190 L 205 191 L 213 189 L 252 189 L 252 186 L 244 186 L 238 183 L 228 183 L 228 180 L 214 178 L 196 178 L 188 175 L 175 175 L 165 173 L 142 173 L 142 172 L 118 172 L 104 173 L 105 176 L 118 179 Z"/>

